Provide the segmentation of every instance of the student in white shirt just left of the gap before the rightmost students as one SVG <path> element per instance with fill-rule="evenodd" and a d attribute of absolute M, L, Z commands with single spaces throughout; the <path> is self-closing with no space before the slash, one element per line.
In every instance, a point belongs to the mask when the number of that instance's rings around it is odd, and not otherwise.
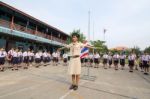
<path fill-rule="evenodd" d="M 129 72 L 133 72 L 133 67 L 135 65 L 135 59 L 136 59 L 136 55 L 132 52 L 129 56 L 128 56 L 128 63 L 129 63 Z"/>

